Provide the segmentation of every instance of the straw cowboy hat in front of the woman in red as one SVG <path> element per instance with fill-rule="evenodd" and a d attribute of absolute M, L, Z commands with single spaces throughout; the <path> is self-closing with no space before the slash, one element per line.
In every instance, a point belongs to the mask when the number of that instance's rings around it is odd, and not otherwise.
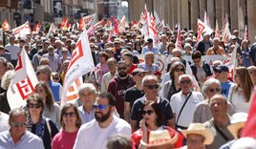
<path fill-rule="evenodd" d="M 174 144 L 178 140 L 178 135 L 176 134 L 171 138 L 168 130 L 157 130 L 151 131 L 148 136 L 148 142 L 144 142 L 142 139 L 140 143 L 146 147 L 157 147 L 160 145 Z"/>

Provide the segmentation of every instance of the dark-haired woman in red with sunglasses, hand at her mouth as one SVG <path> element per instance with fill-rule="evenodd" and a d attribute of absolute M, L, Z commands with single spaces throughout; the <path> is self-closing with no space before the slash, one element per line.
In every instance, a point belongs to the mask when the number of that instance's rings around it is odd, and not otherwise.
<path fill-rule="evenodd" d="M 176 132 L 169 126 L 162 125 L 164 121 L 160 111 L 160 104 L 157 102 L 147 100 L 141 107 L 142 119 L 139 123 L 140 129 L 132 134 L 133 145 L 139 149 L 146 149 L 147 147 L 140 144 L 142 139 L 144 142 L 148 142 L 149 133 L 156 130 L 168 130 L 171 138 L 178 135 L 179 139 L 173 147 L 178 148 L 182 146 L 183 137 L 180 133 Z"/>

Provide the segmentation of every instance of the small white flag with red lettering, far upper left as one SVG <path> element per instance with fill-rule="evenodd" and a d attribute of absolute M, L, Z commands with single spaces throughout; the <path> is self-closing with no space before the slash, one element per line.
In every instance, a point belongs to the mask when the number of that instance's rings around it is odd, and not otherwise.
<path fill-rule="evenodd" d="M 27 21 L 23 25 L 13 29 L 12 32 L 14 32 L 15 37 L 26 37 L 27 34 L 32 33 L 32 29 L 30 23 Z"/>

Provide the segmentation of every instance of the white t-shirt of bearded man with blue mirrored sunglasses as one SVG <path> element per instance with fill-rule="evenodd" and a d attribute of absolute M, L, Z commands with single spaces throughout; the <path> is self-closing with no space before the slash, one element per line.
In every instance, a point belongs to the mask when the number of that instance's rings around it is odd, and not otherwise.
<path fill-rule="evenodd" d="M 107 128 L 100 128 L 96 119 L 83 124 L 75 138 L 74 149 L 106 149 L 107 138 L 117 134 L 131 136 L 131 126 L 125 120 L 113 116 Z"/>

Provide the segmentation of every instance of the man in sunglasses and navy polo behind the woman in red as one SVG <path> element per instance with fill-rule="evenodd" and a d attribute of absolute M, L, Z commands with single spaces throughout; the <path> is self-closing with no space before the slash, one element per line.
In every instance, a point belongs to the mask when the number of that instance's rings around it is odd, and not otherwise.
<path fill-rule="evenodd" d="M 141 107 L 146 100 L 152 100 L 160 104 L 161 113 L 163 114 L 163 124 L 174 128 L 174 117 L 170 103 L 167 99 L 159 96 L 158 78 L 155 75 L 145 75 L 142 79 L 142 89 L 145 96 L 137 99 L 131 112 L 131 127 L 134 133 L 139 129 L 139 121 L 142 119 Z"/>

